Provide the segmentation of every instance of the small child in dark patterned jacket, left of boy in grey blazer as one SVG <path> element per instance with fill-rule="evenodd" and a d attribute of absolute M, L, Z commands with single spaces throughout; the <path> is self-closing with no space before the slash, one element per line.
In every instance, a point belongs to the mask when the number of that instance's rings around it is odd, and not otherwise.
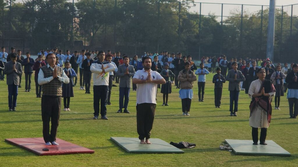
<path fill-rule="evenodd" d="M 215 108 L 221 108 L 221 95 L 223 92 L 223 83 L 226 82 L 224 75 L 221 74 L 221 68 L 216 68 L 216 74 L 213 76 L 212 83 L 214 83 L 214 103 Z"/>

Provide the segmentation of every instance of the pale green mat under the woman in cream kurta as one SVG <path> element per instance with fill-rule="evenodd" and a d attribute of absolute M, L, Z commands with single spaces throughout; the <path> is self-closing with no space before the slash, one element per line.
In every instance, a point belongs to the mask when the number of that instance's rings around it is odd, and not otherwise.
<path fill-rule="evenodd" d="M 225 139 L 237 155 L 270 155 L 270 156 L 291 156 L 287 150 L 272 140 L 266 140 L 268 145 L 253 145 L 252 140 Z"/>

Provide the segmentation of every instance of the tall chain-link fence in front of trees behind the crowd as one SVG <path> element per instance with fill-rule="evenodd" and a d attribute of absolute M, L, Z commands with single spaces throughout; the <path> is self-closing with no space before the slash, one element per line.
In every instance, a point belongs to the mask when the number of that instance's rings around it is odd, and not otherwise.
<path fill-rule="evenodd" d="M 2 46 L 23 52 L 58 47 L 266 57 L 268 6 L 154 0 L 79 0 L 2 4 Z M 296 58 L 298 4 L 276 7 L 274 60 Z"/>

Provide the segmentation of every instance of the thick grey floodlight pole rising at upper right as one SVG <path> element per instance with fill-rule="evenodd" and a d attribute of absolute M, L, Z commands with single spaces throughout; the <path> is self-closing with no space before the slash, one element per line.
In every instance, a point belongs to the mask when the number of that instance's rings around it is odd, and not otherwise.
<path fill-rule="evenodd" d="M 274 62 L 275 3 L 276 0 L 270 0 L 267 36 L 267 57 L 272 62 Z"/>

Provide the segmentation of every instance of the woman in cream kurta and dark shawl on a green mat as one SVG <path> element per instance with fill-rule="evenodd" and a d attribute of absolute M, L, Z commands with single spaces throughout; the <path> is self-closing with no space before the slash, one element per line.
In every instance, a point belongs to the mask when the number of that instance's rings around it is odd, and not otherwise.
<path fill-rule="evenodd" d="M 265 143 L 267 128 L 271 120 L 271 99 L 275 95 L 275 89 L 269 80 L 265 79 L 265 69 L 257 70 L 259 79 L 253 81 L 249 87 L 249 97 L 252 99 L 250 104 L 249 125 L 252 127 L 253 144 L 258 142 L 258 128 L 261 128 L 260 144 Z"/>

